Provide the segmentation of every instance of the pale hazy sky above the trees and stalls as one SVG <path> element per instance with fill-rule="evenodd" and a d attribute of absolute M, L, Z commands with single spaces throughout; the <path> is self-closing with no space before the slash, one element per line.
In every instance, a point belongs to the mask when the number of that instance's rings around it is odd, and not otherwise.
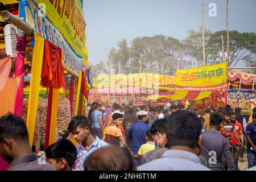
<path fill-rule="evenodd" d="M 201 3 L 205 28 L 225 30 L 225 0 L 84 0 L 88 61 L 108 60 L 110 48 L 125 38 L 128 43 L 159 34 L 184 39 L 188 30 L 201 27 Z M 208 15 L 209 3 L 216 3 L 217 17 Z M 255 0 L 229 0 L 229 29 L 256 32 Z"/>

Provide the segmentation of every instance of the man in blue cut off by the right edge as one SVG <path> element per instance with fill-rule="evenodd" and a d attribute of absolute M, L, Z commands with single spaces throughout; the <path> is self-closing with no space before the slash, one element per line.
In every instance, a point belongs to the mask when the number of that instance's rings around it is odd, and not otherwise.
<path fill-rule="evenodd" d="M 252 115 L 253 122 L 246 127 L 247 140 L 247 158 L 248 168 L 253 167 L 253 162 L 256 160 L 256 113 Z"/>

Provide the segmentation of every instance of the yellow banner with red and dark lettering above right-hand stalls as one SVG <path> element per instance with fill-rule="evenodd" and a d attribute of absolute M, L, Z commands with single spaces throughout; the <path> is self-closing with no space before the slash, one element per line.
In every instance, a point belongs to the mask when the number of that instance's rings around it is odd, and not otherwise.
<path fill-rule="evenodd" d="M 226 84 L 226 62 L 192 69 L 177 69 L 175 86 L 215 86 Z"/>

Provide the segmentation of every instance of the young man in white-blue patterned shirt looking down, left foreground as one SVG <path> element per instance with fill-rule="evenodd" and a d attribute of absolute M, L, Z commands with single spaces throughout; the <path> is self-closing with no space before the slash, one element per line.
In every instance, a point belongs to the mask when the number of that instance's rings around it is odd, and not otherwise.
<path fill-rule="evenodd" d="M 84 170 L 84 160 L 94 150 L 108 146 L 108 143 L 102 141 L 97 136 L 90 133 L 89 120 L 81 115 L 77 115 L 71 119 L 68 125 L 68 131 L 73 135 L 76 142 L 79 143 L 77 148 L 77 159 L 75 162 L 76 171 Z"/>

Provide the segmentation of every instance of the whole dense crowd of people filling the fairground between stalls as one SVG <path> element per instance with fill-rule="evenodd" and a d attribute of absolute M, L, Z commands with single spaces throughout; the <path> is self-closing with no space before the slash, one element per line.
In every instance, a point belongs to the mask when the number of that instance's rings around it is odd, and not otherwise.
<path fill-rule="evenodd" d="M 7 169 L 237 171 L 246 153 L 248 170 L 256 170 L 256 107 L 247 122 L 241 108 L 229 105 L 207 107 L 204 113 L 170 102 L 90 106 L 88 117 L 73 117 L 66 137 L 45 150 L 44 163 L 31 150 L 23 119 L 1 117 L 0 156 Z"/>

